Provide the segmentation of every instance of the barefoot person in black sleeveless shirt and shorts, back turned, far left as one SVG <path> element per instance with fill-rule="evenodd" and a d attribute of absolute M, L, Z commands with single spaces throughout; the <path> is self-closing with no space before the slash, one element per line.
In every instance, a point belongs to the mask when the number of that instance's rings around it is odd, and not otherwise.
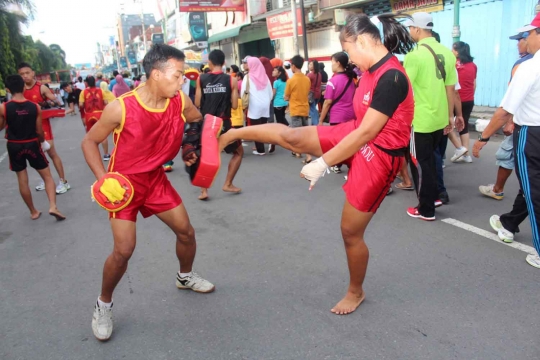
<path fill-rule="evenodd" d="M 9 168 L 17 173 L 21 197 L 30 210 L 32 220 L 38 219 L 41 212 L 34 207 L 32 193 L 28 186 L 28 172 L 26 171 L 28 161 L 45 182 L 45 190 L 49 198 L 49 214 L 57 220 L 65 220 L 65 216 L 56 207 L 54 180 L 40 145 L 44 142 L 41 109 L 36 103 L 24 98 L 24 81 L 19 75 L 8 76 L 6 87 L 13 97 L 11 101 L 0 106 L 0 131 L 7 126 Z"/>

